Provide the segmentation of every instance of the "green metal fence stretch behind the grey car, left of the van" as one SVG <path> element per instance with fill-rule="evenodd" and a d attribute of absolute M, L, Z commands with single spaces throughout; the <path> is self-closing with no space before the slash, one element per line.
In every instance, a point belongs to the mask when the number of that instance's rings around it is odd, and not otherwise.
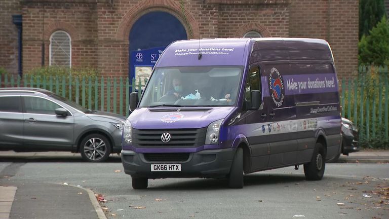
<path fill-rule="evenodd" d="M 31 87 L 50 90 L 86 108 L 129 115 L 130 92 L 144 87 L 146 81 L 132 85 L 128 78 L 113 77 L 33 77 L 23 79 L 0 75 L 0 87 Z M 140 96 L 140 93 L 139 93 Z"/>

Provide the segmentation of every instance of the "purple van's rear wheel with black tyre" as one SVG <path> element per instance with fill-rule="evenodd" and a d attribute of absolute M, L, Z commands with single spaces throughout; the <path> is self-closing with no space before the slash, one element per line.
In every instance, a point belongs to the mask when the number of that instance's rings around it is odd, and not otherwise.
<path fill-rule="evenodd" d="M 312 160 L 304 164 L 304 174 L 306 180 L 321 180 L 326 168 L 326 149 L 320 142 L 316 143 Z"/>

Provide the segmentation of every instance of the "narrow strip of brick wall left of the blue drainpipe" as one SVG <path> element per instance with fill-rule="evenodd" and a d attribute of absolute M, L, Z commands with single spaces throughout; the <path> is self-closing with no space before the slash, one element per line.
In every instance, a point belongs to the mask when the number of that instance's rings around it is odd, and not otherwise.
<path fill-rule="evenodd" d="M 18 72 L 18 30 L 12 15 L 21 14 L 19 0 L 0 2 L 0 67 L 11 74 Z"/>

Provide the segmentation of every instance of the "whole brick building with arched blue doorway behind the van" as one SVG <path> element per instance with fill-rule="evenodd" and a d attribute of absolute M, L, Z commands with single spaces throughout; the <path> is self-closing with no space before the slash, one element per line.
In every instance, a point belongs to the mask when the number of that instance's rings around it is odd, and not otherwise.
<path fill-rule="evenodd" d="M 2 0 L 0 67 L 17 74 L 42 64 L 91 66 L 105 76 L 128 76 L 129 51 L 137 48 L 167 46 L 177 39 L 290 36 L 327 40 L 342 78 L 357 70 L 358 4 L 358 0 Z"/>

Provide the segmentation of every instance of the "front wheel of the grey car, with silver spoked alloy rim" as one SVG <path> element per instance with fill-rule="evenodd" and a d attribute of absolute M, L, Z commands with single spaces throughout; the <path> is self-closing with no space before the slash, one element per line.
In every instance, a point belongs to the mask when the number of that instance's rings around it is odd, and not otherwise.
<path fill-rule="evenodd" d="M 86 161 L 103 162 L 111 153 L 111 144 L 101 134 L 90 134 L 81 141 L 80 153 Z"/>

